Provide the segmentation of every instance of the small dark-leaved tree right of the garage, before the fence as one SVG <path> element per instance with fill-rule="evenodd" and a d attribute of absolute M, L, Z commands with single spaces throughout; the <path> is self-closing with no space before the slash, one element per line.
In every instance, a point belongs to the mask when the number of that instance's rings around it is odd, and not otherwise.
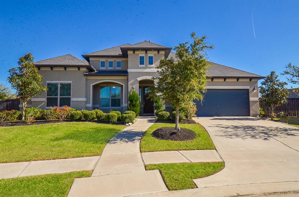
<path fill-rule="evenodd" d="M 277 77 L 278 75 L 274 71 L 271 71 L 259 87 L 261 94 L 260 101 L 263 101 L 271 111 L 271 120 L 273 120 L 275 107 L 286 103 L 290 94 L 285 87 L 288 83 L 280 81 Z"/>

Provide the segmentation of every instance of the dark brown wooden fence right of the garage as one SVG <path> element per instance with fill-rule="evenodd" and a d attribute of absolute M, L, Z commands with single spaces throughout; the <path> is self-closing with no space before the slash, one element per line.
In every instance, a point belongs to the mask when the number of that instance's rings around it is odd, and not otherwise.
<path fill-rule="evenodd" d="M 263 108 L 265 112 L 265 117 L 270 117 L 271 112 L 268 107 L 265 106 L 263 102 L 260 102 L 260 107 Z M 280 107 L 276 107 L 274 109 L 274 114 L 278 114 L 279 112 L 288 113 L 291 116 L 299 116 L 299 98 L 288 98 L 288 102 L 281 105 Z M 277 116 L 277 118 L 279 118 Z"/>

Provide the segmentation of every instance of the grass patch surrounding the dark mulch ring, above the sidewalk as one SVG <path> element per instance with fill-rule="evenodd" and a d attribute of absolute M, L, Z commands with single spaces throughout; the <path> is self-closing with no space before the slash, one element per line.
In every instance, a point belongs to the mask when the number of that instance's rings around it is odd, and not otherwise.
<path fill-rule="evenodd" d="M 152 132 L 161 127 L 174 127 L 174 123 L 154 123 L 147 129 L 142 136 L 140 142 L 141 152 L 153 151 L 175 151 L 175 150 L 211 150 L 215 146 L 206 132 L 206 130 L 198 123 L 196 124 L 180 124 L 181 128 L 191 129 L 195 132 L 196 138 L 189 141 L 170 141 L 159 140 L 152 137 Z"/>

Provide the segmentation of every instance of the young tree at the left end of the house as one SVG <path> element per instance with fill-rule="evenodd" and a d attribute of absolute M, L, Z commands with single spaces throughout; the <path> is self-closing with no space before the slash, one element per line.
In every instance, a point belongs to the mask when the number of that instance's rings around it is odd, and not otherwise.
<path fill-rule="evenodd" d="M 42 86 L 43 76 L 38 73 L 36 66 L 33 64 L 33 56 L 27 53 L 19 58 L 18 65 L 8 70 L 7 78 L 11 87 L 16 90 L 16 97 L 23 101 L 22 120 L 25 119 L 25 107 L 32 96 L 41 95 L 47 87 Z"/>

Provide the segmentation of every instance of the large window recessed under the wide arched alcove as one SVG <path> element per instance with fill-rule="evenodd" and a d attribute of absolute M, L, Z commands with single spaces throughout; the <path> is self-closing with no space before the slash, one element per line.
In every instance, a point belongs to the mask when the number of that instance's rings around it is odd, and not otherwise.
<path fill-rule="evenodd" d="M 120 107 L 120 98 L 120 86 L 100 86 L 100 107 Z"/>

